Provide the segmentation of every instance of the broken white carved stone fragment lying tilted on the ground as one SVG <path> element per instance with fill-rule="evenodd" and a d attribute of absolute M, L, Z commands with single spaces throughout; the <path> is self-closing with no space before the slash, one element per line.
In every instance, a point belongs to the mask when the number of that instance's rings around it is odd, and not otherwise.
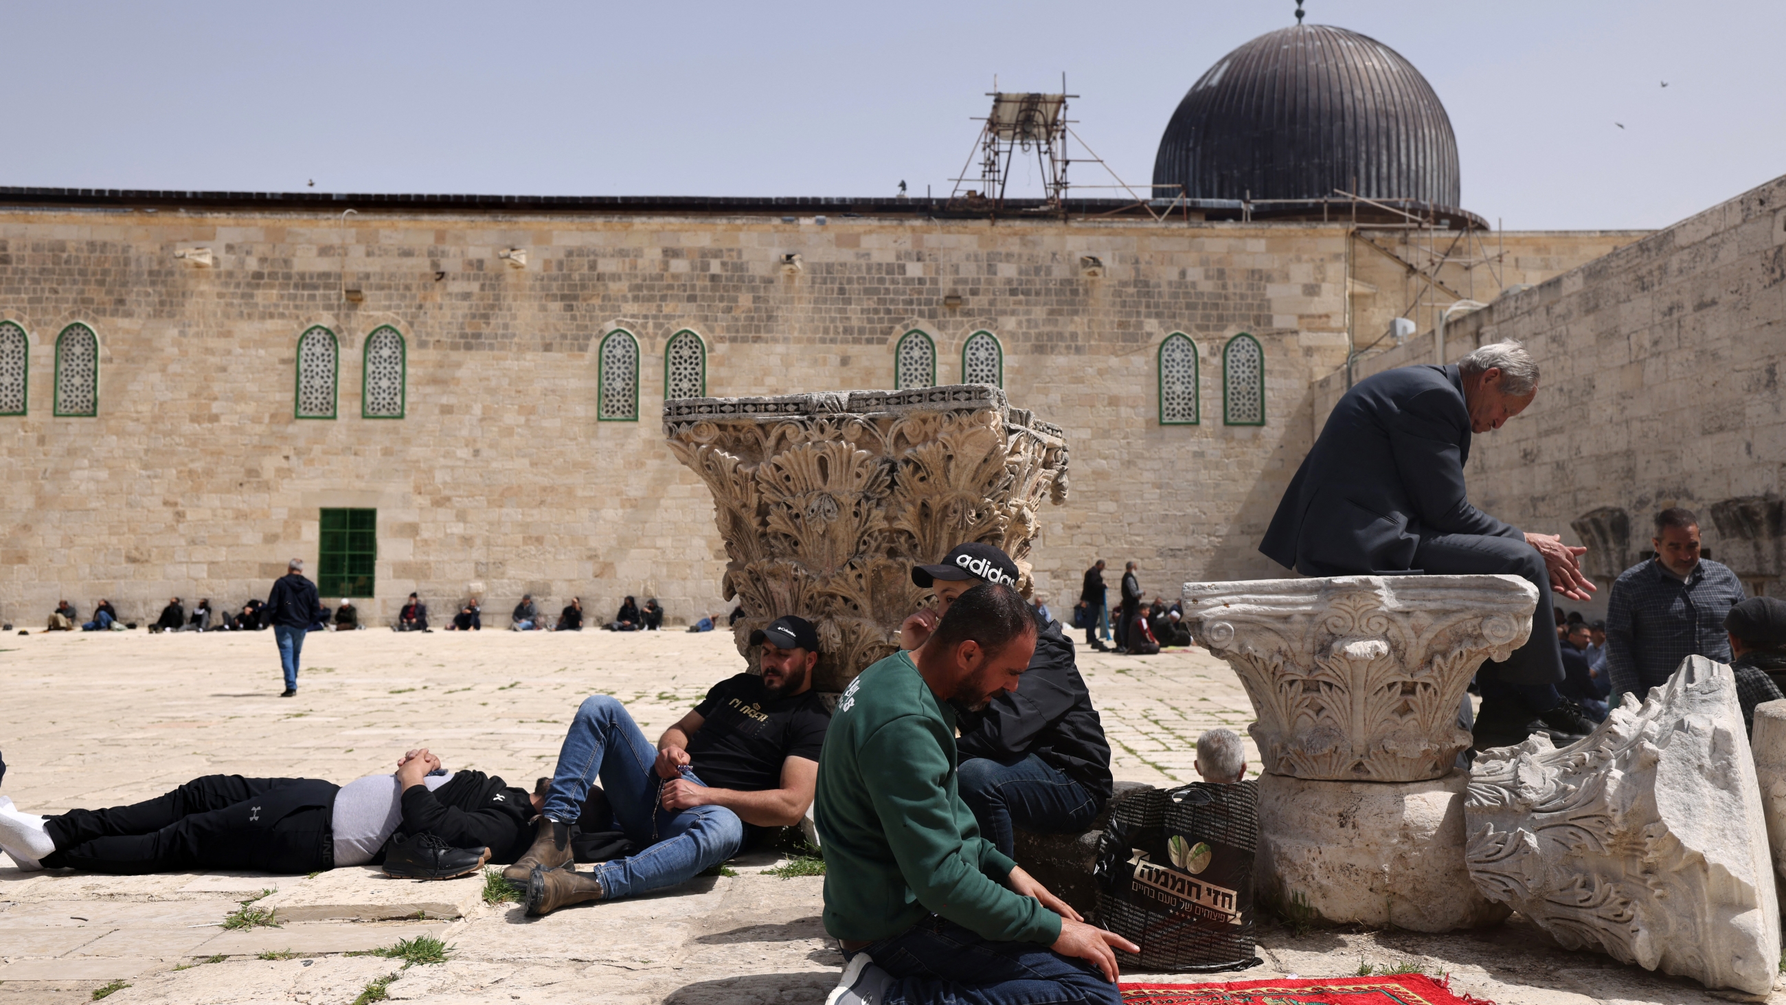
<path fill-rule="evenodd" d="M 1561 750 L 1482 753 L 1465 803 L 1470 878 L 1572 950 L 1766 994 L 1781 918 L 1731 668 L 1688 657 Z"/>

